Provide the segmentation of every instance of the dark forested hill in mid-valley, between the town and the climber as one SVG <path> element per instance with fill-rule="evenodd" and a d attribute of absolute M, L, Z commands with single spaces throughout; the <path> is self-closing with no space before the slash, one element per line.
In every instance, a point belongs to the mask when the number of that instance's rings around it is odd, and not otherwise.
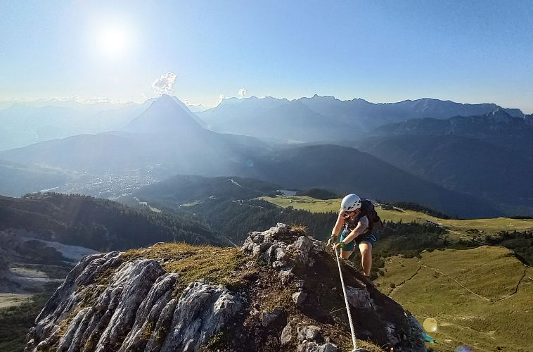
<path fill-rule="evenodd" d="M 317 239 L 327 239 L 335 224 L 335 213 L 284 209 L 255 199 L 274 195 L 278 188 L 276 184 L 243 177 L 176 175 L 135 194 L 150 206 L 192 216 L 236 244 L 242 244 L 248 232 L 265 230 L 278 222 L 302 225 Z"/>

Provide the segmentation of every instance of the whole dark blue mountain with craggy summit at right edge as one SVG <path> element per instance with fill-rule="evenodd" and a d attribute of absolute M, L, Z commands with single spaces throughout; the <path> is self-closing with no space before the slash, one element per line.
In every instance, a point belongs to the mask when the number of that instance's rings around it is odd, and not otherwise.
<path fill-rule="evenodd" d="M 352 142 L 392 165 L 447 189 L 500 204 L 507 213 L 533 213 L 533 124 L 503 109 L 447 120 L 411 119 Z M 514 210 L 511 210 L 514 209 Z"/>

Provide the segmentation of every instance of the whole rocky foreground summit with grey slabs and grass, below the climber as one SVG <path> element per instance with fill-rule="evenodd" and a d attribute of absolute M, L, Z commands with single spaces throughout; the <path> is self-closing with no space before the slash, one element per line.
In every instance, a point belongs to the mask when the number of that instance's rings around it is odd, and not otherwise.
<path fill-rule="evenodd" d="M 342 267 L 359 347 L 425 351 L 410 313 Z M 86 256 L 46 303 L 26 351 L 351 351 L 344 307 L 334 254 L 278 224 L 242 249 L 158 244 Z"/>

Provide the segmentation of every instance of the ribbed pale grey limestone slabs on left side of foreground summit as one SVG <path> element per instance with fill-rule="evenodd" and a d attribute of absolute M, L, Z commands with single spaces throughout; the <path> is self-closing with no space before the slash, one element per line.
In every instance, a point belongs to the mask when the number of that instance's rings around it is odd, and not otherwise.
<path fill-rule="evenodd" d="M 107 284 L 95 282 L 108 269 Z M 156 260 L 124 262 L 118 252 L 88 256 L 46 303 L 25 351 L 198 351 L 242 303 L 201 281 L 172 298 L 177 279 Z"/>

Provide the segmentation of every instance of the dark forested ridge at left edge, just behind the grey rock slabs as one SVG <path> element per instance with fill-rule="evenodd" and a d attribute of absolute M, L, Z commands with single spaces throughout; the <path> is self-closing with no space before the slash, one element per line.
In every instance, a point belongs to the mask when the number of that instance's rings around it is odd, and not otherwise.
<path fill-rule="evenodd" d="M 184 216 L 129 208 L 90 196 L 0 196 L 0 230 L 23 229 L 32 237 L 97 251 L 129 249 L 158 241 L 229 245 Z"/>

